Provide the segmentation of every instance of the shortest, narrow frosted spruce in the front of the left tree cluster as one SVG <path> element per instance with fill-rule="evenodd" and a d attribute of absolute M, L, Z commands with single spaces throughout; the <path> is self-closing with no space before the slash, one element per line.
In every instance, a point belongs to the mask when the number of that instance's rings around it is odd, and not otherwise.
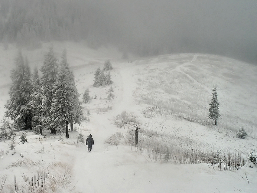
<path fill-rule="evenodd" d="M 37 68 L 34 69 L 32 86 L 32 93 L 30 95 L 31 101 L 29 102 L 32 114 L 32 128 L 35 129 L 37 133 L 43 135 L 42 126 L 46 123 L 46 118 L 43 115 L 46 113 L 47 107 L 43 103 L 45 97 L 42 94 L 41 81 L 38 76 Z"/>

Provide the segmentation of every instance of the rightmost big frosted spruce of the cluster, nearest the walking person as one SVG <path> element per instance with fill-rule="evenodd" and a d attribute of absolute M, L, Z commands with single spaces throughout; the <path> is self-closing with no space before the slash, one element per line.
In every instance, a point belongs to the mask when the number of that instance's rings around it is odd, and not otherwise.
<path fill-rule="evenodd" d="M 54 96 L 50 108 L 49 124 L 51 128 L 66 127 L 66 137 L 69 138 L 68 123 L 80 123 L 83 112 L 79 102 L 79 94 L 75 86 L 73 73 L 67 63 L 66 51 L 63 51 L 60 72 L 54 83 Z"/>

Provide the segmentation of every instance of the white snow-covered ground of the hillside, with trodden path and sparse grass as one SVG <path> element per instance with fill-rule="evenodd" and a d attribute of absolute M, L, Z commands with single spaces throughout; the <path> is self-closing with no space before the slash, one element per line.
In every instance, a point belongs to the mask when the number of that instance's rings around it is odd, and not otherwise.
<path fill-rule="evenodd" d="M 42 66 L 49 45 L 22 50 L 31 71 Z M 164 154 L 154 155 L 140 146 L 128 145 L 132 122 L 117 126 L 119 115 L 127 113 L 141 128 L 139 144 L 147 138 L 143 135 L 149 129 L 157 136 L 148 136 L 150 140 L 170 144 L 180 152 L 239 152 L 247 161 L 247 154 L 257 150 L 256 65 L 208 54 L 130 56 L 122 60 L 122 53 L 112 47 L 92 50 L 83 43 L 53 42 L 53 48 L 59 61 L 66 48 L 81 101 L 83 92 L 89 89 L 92 100 L 83 104 L 88 120 L 74 125 L 76 131 L 69 132 L 69 139 L 65 133 L 52 135 L 44 130 L 40 136 L 27 130 L 28 142 L 19 143 L 23 131 L 18 131 L 15 150 L 10 150 L 10 140 L 2 139 L 1 193 L 40 192 L 39 187 L 44 187 L 44 192 L 82 193 L 257 192 L 257 168 L 249 162 L 238 170 L 224 170 L 223 164 L 221 169 L 210 163 L 176 164 L 173 159 L 165 160 Z M 5 50 L 0 45 L 0 51 L 3 117 L 18 48 L 9 44 Z M 107 59 L 112 63 L 114 83 L 93 87 L 95 70 L 102 69 Z M 113 98 L 107 99 L 111 87 Z M 217 126 L 207 121 L 213 87 L 217 87 L 220 102 Z M 246 139 L 236 135 L 241 127 L 248 133 Z M 77 141 L 79 132 L 85 140 L 92 134 L 95 144 L 91 153 Z M 106 140 L 113 134 L 119 134 L 119 144 L 111 146 Z"/>

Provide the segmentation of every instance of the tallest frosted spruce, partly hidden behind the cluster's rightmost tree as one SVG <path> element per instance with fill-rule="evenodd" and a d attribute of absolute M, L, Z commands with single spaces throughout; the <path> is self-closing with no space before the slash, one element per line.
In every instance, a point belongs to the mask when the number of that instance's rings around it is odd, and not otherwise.
<path fill-rule="evenodd" d="M 57 59 L 54 57 L 54 51 L 53 47 L 49 48 L 49 51 L 44 56 L 44 63 L 41 67 L 42 72 L 42 94 L 44 95 L 43 103 L 46 106 L 46 111 L 42 112 L 44 113 L 43 116 L 45 119 L 49 119 L 50 116 L 50 108 L 54 100 L 54 87 L 55 82 L 57 80 L 57 72 L 58 72 L 58 64 Z M 51 121 L 47 121 L 44 124 L 44 127 L 46 129 L 50 129 L 51 133 L 56 134 L 55 128 L 50 128 Z"/>

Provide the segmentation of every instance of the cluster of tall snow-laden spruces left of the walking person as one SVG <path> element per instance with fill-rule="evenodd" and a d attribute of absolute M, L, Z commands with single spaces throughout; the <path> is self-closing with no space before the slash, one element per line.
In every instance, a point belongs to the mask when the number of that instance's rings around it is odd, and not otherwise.
<path fill-rule="evenodd" d="M 5 104 L 6 116 L 14 121 L 13 127 L 35 129 L 41 135 L 43 128 L 56 133 L 57 129 L 66 127 L 69 137 L 68 124 L 73 130 L 73 123 L 80 123 L 83 112 L 66 51 L 58 64 L 53 48 L 49 48 L 40 69 L 41 78 L 37 68 L 31 75 L 28 60 L 21 52 L 15 64 L 15 69 L 11 70 L 10 99 Z"/>

